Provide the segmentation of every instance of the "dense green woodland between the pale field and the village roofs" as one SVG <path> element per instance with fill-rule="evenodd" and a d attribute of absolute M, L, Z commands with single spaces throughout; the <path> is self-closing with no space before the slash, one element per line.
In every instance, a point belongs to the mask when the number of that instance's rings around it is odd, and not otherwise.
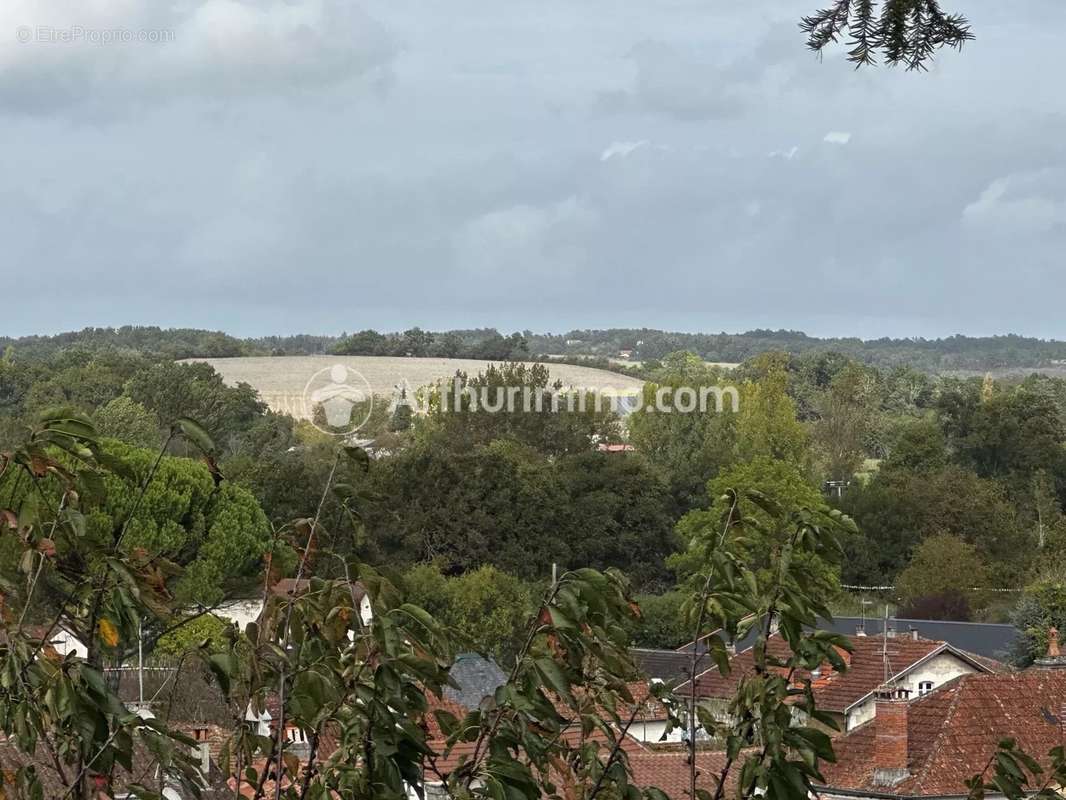
<path fill-rule="evenodd" d="M 254 498 L 265 521 L 311 513 L 333 437 L 271 412 L 252 387 L 225 385 L 206 364 L 174 363 L 211 342 L 246 346 L 221 334 L 122 329 L 9 347 L 0 361 L 0 449 L 54 406 L 85 413 L 104 435 L 143 448 L 158 446 L 168 420 L 189 416 L 217 444 L 225 485 Z M 454 583 L 434 596 L 465 597 L 453 611 L 438 609 L 459 626 L 472 618 L 450 613 L 503 603 L 495 591 L 520 605 L 553 565 L 618 567 L 648 598 L 637 640 L 658 645 L 683 639 L 677 554 L 710 524 L 728 487 L 759 489 L 788 508 L 843 509 L 859 532 L 844 542 L 847 558 L 833 579 L 894 586 L 883 596 L 907 613 L 1005 620 L 1016 590 L 1056 579 L 1066 545 L 1066 381 L 937 377 L 839 352 L 766 352 L 723 371 L 701 355 L 675 352 L 646 364 L 649 398 L 660 386 L 730 383 L 741 397 L 736 412 L 620 419 L 438 407 L 413 416 L 377 404 L 365 431 L 378 453 L 360 487 L 366 527 L 353 537 L 343 502 L 327 498 L 326 518 L 337 523 L 330 546 L 401 573 L 417 569 L 421 586 L 430 573 L 441 586 Z M 504 365 L 455 380 L 546 390 L 550 377 Z M 620 441 L 634 450 L 597 448 Z M 175 459 L 190 454 L 181 444 L 171 450 Z M 147 541 L 221 541 L 211 539 L 210 510 L 196 506 L 210 471 L 172 474 L 179 495 L 172 502 L 191 522 L 184 531 L 146 531 Z M 826 492 L 827 481 L 844 489 Z M 171 511 L 162 505 L 160 519 Z M 216 554 L 225 564 L 212 562 L 207 547 L 188 591 L 255 581 L 251 554 L 266 522 L 248 525 L 238 550 Z M 483 567 L 491 572 L 478 573 Z M 1003 589 L 1012 591 L 988 591 Z M 470 591 L 490 594 L 474 602 Z M 840 592 L 841 608 L 850 597 Z M 1029 618 L 1047 617 L 1040 608 L 1029 608 Z M 505 649 L 495 637 L 485 633 L 482 643 Z"/>

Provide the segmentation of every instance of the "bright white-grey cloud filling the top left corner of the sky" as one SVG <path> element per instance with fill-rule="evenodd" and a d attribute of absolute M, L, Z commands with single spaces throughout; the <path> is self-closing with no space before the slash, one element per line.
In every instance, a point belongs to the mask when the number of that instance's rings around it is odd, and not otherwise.
<path fill-rule="evenodd" d="M 346 0 L 12 0 L 0 11 L 0 107 L 107 117 L 356 78 L 384 87 L 395 53 L 381 22 Z"/>

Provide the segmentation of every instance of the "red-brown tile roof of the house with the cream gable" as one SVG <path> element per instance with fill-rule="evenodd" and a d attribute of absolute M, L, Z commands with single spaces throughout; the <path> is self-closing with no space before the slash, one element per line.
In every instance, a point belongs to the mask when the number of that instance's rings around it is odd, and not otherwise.
<path fill-rule="evenodd" d="M 950 647 L 946 642 L 930 639 L 915 639 L 909 636 L 892 637 L 854 637 L 851 639 L 853 652 L 841 651 L 847 670 L 837 672 L 826 665 L 820 677 L 814 678 L 811 688 L 814 691 L 814 702 L 818 707 L 827 711 L 843 713 L 849 706 L 874 691 L 884 683 L 884 661 L 882 649 L 887 647 L 890 676 L 905 672 L 918 661 L 926 658 L 938 650 Z M 768 643 L 771 655 L 785 659 L 790 655 L 788 644 L 779 636 L 774 636 Z M 990 669 L 986 659 L 978 660 L 969 654 L 952 649 L 952 652 L 964 658 L 969 658 L 979 669 Z M 738 684 L 755 669 L 752 650 L 738 653 L 731 659 L 732 671 L 723 676 L 717 668 L 708 670 L 696 678 L 696 689 L 705 698 L 731 698 Z M 781 672 L 784 672 L 781 670 Z M 796 681 L 810 677 L 806 672 L 797 671 Z M 678 691 L 688 693 L 690 684 L 683 684 Z"/>

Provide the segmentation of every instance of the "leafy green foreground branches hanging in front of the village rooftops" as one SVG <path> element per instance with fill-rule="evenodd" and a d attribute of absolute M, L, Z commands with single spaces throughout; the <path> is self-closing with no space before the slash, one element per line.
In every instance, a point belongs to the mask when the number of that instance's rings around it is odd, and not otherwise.
<path fill-rule="evenodd" d="M 175 426 L 177 436 L 208 455 L 213 449 L 189 420 Z M 368 468 L 365 453 L 346 450 L 323 487 L 323 496 L 340 496 L 356 527 Z M 698 646 L 693 679 L 676 693 L 636 683 L 628 630 L 640 611 L 616 573 L 559 577 L 506 683 L 461 717 L 439 702 L 457 637 L 375 570 L 341 559 L 343 578 L 293 581 L 286 594 L 274 591 L 277 570 L 268 565 L 259 620 L 226 628 L 221 651 L 191 654 L 210 672 L 230 720 L 215 759 L 222 785 L 209 787 L 198 742 L 131 710 L 104 677 L 107 665 L 135 651 L 143 626 L 172 627 L 189 611 L 168 589 L 180 565 L 125 541 L 155 467 L 128 476 L 140 494 L 113 530 L 96 535 L 84 524 L 101 477 L 126 471 L 74 415 L 44 419 L 25 446 L 0 455 L 0 797 L 399 800 L 432 791 L 455 800 L 662 800 L 663 791 L 634 785 L 627 755 L 645 695 L 688 730 L 689 797 L 800 800 L 834 758 L 826 733 L 834 723 L 814 706 L 810 675 L 825 665 L 843 670 L 847 643 L 814 630 L 829 589 L 828 571 L 815 567 L 837 563 L 836 533 L 850 522 L 785 515 L 749 492 L 729 493 L 724 516 L 691 531 L 681 566 Z M 319 549 L 323 533 L 320 514 L 285 532 L 302 553 L 297 576 L 339 558 Z M 275 563 L 275 550 L 264 555 Z M 726 643 L 753 627 L 755 668 L 734 697 L 724 707 L 699 698 L 699 675 L 709 667 L 726 674 Z M 76 633 L 86 653 L 60 655 L 50 646 L 59 629 Z M 788 644 L 787 656 L 771 653 L 773 636 Z M 261 723 L 268 710 L 274 730 Z M 724 747 L 716 774 L 698 774 L 698 742 Z M 1066 778 L 1063 761 L 1055 754 L 1046 793 Z M 972 796 L 996 787 L 1020 797 L 1039 788 L 1029 785 L 1038 769 L 1004 742 L 974 778 Z"/>

